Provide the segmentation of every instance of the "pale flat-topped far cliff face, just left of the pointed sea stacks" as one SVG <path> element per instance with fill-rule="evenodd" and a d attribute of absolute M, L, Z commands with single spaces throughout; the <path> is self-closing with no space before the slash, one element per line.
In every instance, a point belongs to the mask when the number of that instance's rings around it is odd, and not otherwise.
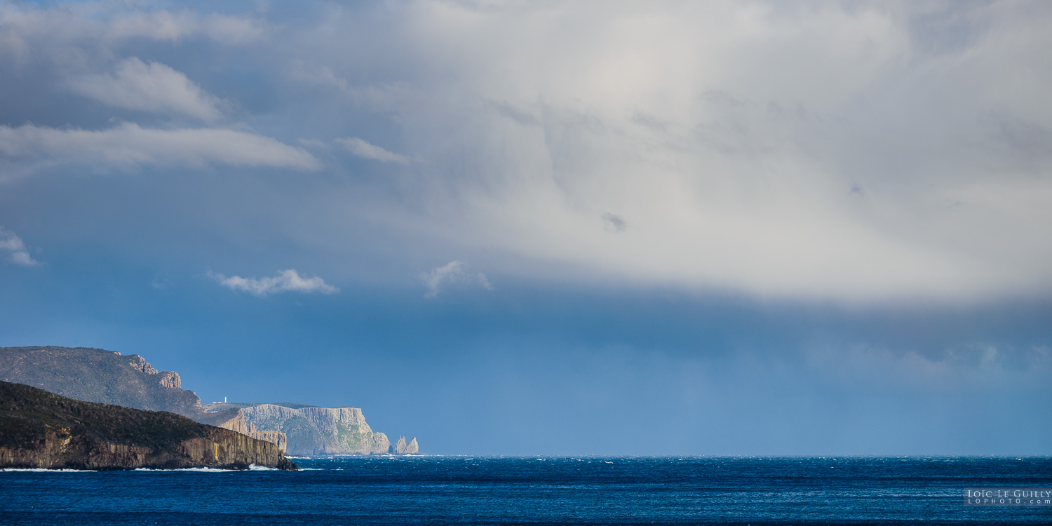
<path fill-rule="evenodd" d="M 237 407 L 257 432 L 283 432 L 288 454 L 373 454 L 391 450 L 382 432 L 373 432 L 358 407 L 281 404 L 208 404 L 205 410 Z"/>

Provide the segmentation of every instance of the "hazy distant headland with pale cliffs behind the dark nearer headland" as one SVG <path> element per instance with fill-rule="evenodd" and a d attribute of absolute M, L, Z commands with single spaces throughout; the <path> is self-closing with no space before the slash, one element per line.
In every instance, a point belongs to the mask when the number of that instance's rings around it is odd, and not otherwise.
<path fill-rule="evenodd" d="M 290 403 L 216 403 L 182 388 L 179 373 L 159 371 L 138 355 L 84 347 L 0 347 L 0 380 L 64 397 L 136 409 L 170 411 L 272 442 L 288 454 L 412 454 L 417 439 L 394 444 L 373 431 L 357 407 Z"/>

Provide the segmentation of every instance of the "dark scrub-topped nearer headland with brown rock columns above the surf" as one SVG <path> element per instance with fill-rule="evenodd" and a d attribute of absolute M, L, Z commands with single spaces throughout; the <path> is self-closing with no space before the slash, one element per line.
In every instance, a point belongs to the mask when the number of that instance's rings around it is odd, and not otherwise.
<path fill-rule="evenodd" d="M 277 444 L 155 412 L 0 382 L 0 467 L 297 469 Z"/>

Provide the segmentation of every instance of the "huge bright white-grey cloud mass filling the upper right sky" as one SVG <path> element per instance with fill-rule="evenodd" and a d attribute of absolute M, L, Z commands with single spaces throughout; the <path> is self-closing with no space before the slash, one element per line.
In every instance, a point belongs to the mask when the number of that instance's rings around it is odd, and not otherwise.
<path fill-rule="evenodd" d="M 300 68 L 317 86 L 413 79 L 382 107 L 428 161 L 406 185 L 416 216 L 390 215 L 421 240 L 541 279 L 846 302 L 1052 292 L 1052 70 L 1033 67 L 1052 7 L 392 7 L 392 26 L 359 27 L 398 35 L 382 57 L 347 52 L 355 32 L 299 55 L 324 64 Z M 630 228 L 596 221 L 610 213 Z"/>

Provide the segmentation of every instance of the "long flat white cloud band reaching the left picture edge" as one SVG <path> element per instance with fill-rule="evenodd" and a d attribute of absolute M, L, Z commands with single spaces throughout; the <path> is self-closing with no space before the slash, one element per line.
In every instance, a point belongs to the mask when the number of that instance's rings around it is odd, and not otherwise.
<path fill-rule="evenodd" d="M 307 151 L 269 137 L 222 128 L 143 128 L 134 123 L 102 130 L 0 125 L 0 154 L 118 166 L 321 166 Z"/>

